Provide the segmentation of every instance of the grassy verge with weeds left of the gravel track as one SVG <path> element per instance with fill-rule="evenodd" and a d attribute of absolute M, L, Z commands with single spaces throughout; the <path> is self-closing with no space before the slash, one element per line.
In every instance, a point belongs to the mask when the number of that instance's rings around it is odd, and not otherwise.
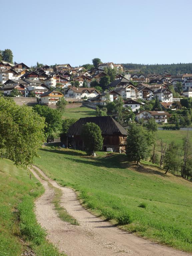
<path fill-rule="evenodd" d="M 0 255 L 21 256 L 33 250 L 36 256 L 60 256 L 37 224 L 34 199 L 43 187 L 29 173 L 10 160 L 0 159 Z M 21 240 L 24 240 L 22 242 Z"/>

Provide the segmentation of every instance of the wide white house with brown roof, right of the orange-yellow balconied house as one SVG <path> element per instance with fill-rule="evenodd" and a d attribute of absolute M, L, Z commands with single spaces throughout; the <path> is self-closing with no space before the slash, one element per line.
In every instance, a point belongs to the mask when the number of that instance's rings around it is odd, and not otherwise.
<path fill-rule="evenodd" d="M 83 98 L 93 99 L 99 95 L 99 92 L 95 88 L 86 87 L 70 87 L 65 93 L 65 97 L 81 100 Z"/>

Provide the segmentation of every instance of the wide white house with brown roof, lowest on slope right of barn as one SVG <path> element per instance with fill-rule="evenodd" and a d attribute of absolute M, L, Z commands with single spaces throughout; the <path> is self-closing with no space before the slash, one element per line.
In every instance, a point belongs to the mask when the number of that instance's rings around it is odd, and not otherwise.
<path fill-rule="evenodd" d="M 167 118 L 169 113 L 166 111 L 148 111 L 143 110 L 135 114 L 135 120 L 140 122 L 143 119 L 143 122 L 146 123 L 148 119 L 154 118 L 156 123 L 167 123 Z"/>

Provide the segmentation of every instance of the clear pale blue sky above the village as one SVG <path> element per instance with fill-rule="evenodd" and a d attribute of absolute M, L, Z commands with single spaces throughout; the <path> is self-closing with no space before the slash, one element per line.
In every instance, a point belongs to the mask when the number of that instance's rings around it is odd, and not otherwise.
<path fill-rule="evenodd" d="M 0 49 L 26 65 L 192 62 L 191 0 L 0 0 Z"/>

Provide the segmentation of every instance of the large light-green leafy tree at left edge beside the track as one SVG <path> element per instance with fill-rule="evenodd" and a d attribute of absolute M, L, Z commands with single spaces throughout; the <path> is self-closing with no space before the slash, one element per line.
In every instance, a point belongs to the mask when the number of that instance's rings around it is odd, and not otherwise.
<path fill-rule="evenodd" d="M 26 167 L 38 157 L 45 119 L 28 106 L 0 98 L 0 155 Z"/>

